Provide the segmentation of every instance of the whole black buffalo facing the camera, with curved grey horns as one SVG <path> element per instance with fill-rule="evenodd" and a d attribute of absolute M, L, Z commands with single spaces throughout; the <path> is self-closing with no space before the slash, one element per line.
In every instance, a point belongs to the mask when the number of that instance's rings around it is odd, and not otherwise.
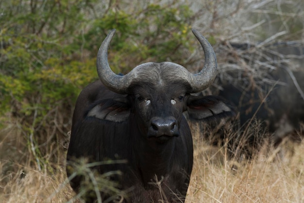
<path fill-rule="evenodd" d="M 68 148 L 67 172 L 77 169 L 73 161 L 126 160 L 127 163 L 99 165 L 127 191 L 124 202 L 184 202 L 193 163 L 190 128 L 183 115 L 195 120 L 233 115 L 220 97 L 193 96 L 207 88 L 216 75 L 216 57 L 203 36 L 193 31 L 205 52 L 205 66 L 189 73 L 172 62 L 144 63 L 125 76 L 111 71 L 107 49 L 112 31 L 101 45 L 97 68 L 101 81 L 89 84 L 78 97 Z M 82 177 L 70 181 L 79 192 Z M 157 185 L 158 183 L 158 185 Z M 85 197 L 93 201 L 95 197 Z M 91 199 L 90 199 L 91 198 Z M 102 200 L 109 194 L 101 192 Z"/>

